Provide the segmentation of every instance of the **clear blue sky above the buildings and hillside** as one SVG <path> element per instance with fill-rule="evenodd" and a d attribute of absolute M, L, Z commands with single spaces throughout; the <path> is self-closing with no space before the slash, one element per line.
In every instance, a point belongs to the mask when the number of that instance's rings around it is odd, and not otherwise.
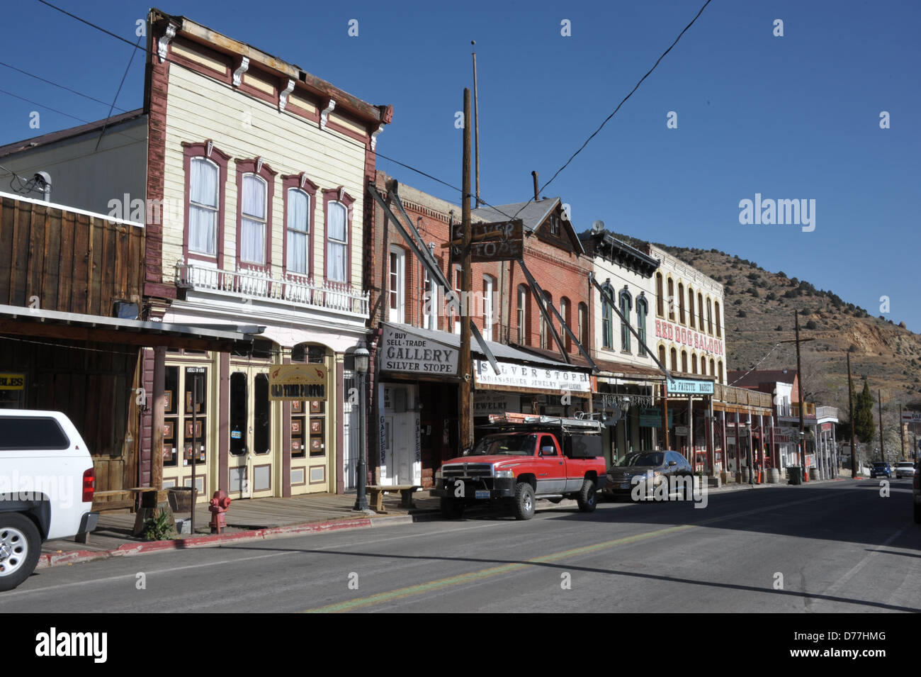
<path fill-rule="evenodd" d="M 136 40 L 147 3 L 52 0 Z M 149 0 L 148 0 L 149 2 Z M 704 0 L 604 3 L 305 4 L 271 14 L 237 0 L 164 0 L 184 15 L 300 65 L 375 104 L 391 103 L 382 154 L 461 183 L 462 88 L 479 68 L 481 186 L 492 204 L 532 194 L 655 63 Z M 444 6 L 441 6 L 444 5 Z M 456 7 L 456 8 L 451 8 Z M 462 7 L 462 8 L 461 8 Z M 111 101 L 132 48 L 37 0 L 6 4 L 0 61 Z M 358 20 L 358 36 L 348 22 Z M 774 21 L 784 22 L 775 37 Z M 561 35 L 561 21 L 571 36 Z M 659 68 L 543 191 L 571 204 L 577 229 L 717 248 L 809 280 L 921 332 L 921 53 L 916 2 L 713 0 Z M 143 44 L 143 43 L 142 43 Z M 142 104 L 139 52 L 117 100 Z M 0 66 L 0 89 L 84 120 L 108 106 Z M 40 130 L 29 113 L 41 114 Z M 677 129 L 666 126 L 677 113 Z M 891 127 L 880 129 L 880 112 Z M 118 112 L 118 111 L 116 111 Z M 0 93 L 0 145 L 79 124 Z M 451 189 L 379 160 L 403 182 Z M 815 200 L 815 229 L 741 225 L 740 200 Z"/>

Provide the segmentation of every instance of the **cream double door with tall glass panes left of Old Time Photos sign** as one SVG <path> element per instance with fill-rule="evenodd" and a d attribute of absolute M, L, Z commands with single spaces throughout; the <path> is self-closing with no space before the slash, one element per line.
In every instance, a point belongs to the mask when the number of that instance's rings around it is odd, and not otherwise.
<path fill-rule="evenodd" d="M 231 498 L 273 495 L 274 406 L 269 400 L 269 367 L 230 365 Z"/>

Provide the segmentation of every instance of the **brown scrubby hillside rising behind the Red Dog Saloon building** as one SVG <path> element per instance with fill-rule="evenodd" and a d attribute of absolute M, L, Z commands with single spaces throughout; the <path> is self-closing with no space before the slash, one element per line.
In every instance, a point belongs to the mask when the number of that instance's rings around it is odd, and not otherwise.
<path fill-rule="evenodd" d="M 614 234 L 634 245 L 639 240 Z M 796 368 L 794 310 L 799 310 L 803 388 L 807 401 L 837 406 L 847 418 L 847 364 L 855 389 L 866 376 L 874 399 L 882 391 L 884 425 L 894 427 L 899 404 L 921 405 L 921 335 L 904 322 L 873 317 L 831 291 L 809 282 L 771 273 L 757 263 L 723 251 L 670 247 L 656 243 L 723 284 L 729 370 Z M 773 349 L 773 350 L 772 350 Z M 765 357 L 766 356 L 766 357 Z"/>

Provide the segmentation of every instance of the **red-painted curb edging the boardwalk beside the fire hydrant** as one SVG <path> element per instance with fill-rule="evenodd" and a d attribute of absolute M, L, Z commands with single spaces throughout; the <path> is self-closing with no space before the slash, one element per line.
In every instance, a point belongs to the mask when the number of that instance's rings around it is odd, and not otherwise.
<path fill-rule="evenodd" d="M 367 529 L 369 527 L 396 526 L 399 524 L 412 524 L 419 519 L 426 519 L 425 514 L 420 515 L 394 515 L 392 517 L 375 518 L 343 518 L 332 519 L 324 522 L 307 522 L 305 524 L 289 524 L 283 527 L 270 527 L 268 529 L 255 529 L 251 531 L 237 531 L 235 533 L 209 534 L 194 536 L 192 538 L 177 538 L 169 541 L 150 541 L 146 543 L 125 543 L 114 550 L 70 550 L 63 553 L 42 553 L 36 570 L 46 569 L 51 566 L 70 566 L 84 562 L 94 562 L 112 557 L 131 557 L 136 554 L 161 553 L 168 550 L 188 550 L 190 548 L 209 548 L 226 543 L 245 543 L 249 541 L 262 541 L 273 538 L 286 538 L 303 536 L 310 533 L 324 533 L 327 531 L 341 531 L 344 529 Z"/>

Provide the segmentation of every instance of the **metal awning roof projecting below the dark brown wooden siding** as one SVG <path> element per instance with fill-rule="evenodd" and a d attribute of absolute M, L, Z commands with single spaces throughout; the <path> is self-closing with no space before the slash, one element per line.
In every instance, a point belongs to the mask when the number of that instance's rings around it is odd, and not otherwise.
<path fill-rule="evenodd" d="M 255 336 L 264 330 L 255 324 L 173 324 L 0 305 L 0 333 L 64 341 L 163 345 L 227 353 L 234 347 L 251 346 Z"/>

